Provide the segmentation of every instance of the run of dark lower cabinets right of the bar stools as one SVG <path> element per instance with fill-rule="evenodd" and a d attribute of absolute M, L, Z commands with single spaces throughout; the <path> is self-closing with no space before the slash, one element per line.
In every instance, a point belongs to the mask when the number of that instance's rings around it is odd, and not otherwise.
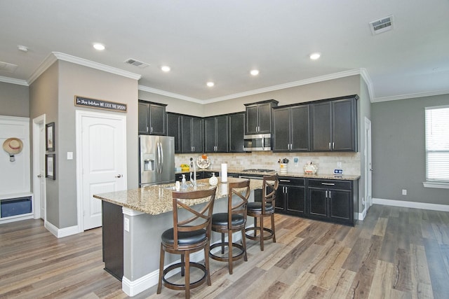
<path fill-rule="evenodd" d="M 354 225 L 358 214 L 357 181 L 279 176 L 276 212 Z"/>

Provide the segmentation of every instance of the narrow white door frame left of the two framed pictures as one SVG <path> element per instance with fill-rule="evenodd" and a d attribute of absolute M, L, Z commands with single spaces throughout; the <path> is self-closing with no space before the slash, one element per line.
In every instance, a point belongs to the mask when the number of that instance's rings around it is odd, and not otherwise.
<path fill-rule="evenodd" d="M 47 221 L 47 207 L 44 209 L 43 216 L 41 215 L 41 179 L 39 178 L 39 171 L 41 169 L 39 153 L 45 153 L 45 144 L 41 144 L 40 127 L 41 125 L 45 128 L 46 115 L 42 114 L 33 118 L 33 211 L 34 219 L 42 218 L 43 223 Z M 43 184 L 43 194 L 46 195 L 45 184 Z M 43 200 L 46 200 L 44 198 Z"/>

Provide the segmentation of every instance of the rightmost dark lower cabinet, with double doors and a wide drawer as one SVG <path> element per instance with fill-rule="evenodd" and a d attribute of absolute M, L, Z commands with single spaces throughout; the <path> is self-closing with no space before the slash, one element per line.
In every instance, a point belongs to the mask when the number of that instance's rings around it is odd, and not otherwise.
<path fill-rule="evenodd" d="M 358 187 L 354 181 L 308 179 L 307 216 L 354 225 L 358 213 Z"/>

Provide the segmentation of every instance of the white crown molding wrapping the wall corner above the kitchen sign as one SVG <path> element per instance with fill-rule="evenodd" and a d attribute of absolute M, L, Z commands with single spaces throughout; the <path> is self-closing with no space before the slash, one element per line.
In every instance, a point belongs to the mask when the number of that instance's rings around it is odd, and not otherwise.
<path fill-rule="evenodd" d="M 130 71 L 123 71 L 123 69 L 117 69 L 116 67 L 109 67 L 105 64 L 100 64 L 98 62 L 93 62 L 91 60 L 85 60 L 83 58 L 75 57 L 72 55 L 68 55 L 60 52 L 52 52 L 50 53 L 45 60 L 39 65 L 39 67 L 34 71 L 32 76 L 28 79 L 28 84 L 33 83 L 36 78 L 39 78 L 41 74 L 48 69 L 56 60 L 63 60 L 66 62 L 72 62 L 74 64 L 82 65 L 83 67 L 91 67 L 92 69 L 98 69 L 99 71 L 106 71 L 107 73 L 116 74 L 119 76 L 123 76 L 126 78 L 131 78 L 134 80 L 139 80 L 142 78 L 141 75 L 131 73 Z"/>

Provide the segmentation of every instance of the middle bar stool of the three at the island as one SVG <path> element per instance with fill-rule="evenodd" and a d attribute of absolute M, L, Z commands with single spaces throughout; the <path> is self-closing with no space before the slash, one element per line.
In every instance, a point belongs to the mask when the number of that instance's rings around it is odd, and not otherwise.
<path fill-rule="evenodd" d="M 242 190 L 242 188 L 244 189 Z M 242 257 L 245 261 L 248 260 L 246 256 L 245 225 L 246 205 L 250 192 L 250 180 L 228 183 L 227 213 L 217 213 L 212 216 L 212 231 L 220 232 L 222 240 L 210 245 L 209 256 L 214 260 L 227 261 L 229 274 L 232 274 L 232 262 L 234 260 L 239 260 Z M 232 233 L 238 231 L 241 232 L 242 244 L 232 242 Z M 227 242 L 225 242 L 225 234 L 227 234 Z M 221 256 L 212 253 L 212 249 L 219 246 L 221 247 Z M 225 256 L 226 246 L 228 248 L 227 256 Z M 233 247 L 239 249 L 240 253 L 233 256 Z"/>

